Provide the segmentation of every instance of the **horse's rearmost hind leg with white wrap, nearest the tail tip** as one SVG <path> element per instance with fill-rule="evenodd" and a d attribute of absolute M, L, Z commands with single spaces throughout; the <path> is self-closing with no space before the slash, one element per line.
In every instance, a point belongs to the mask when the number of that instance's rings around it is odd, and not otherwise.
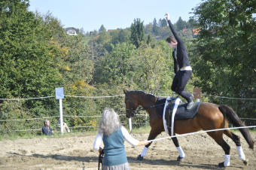
<path fill-rule="evenodd" d="M 240 138 L 238 135 L 234 134 L 233 132 L 231 132 L 230 130 L 225 130 L 224 134 L 227 135 L 229 138 L 231 138 L 235 144 L 236 144 L 236 149 L 239 155 L 239 159 L 242 160 L 242 162 L 247 165 L 247 161 L 245 159 L 245 153 L 243 153 L 242 150 L 242 146 L 241 146 L 241 142 L 240 142 Z"/>

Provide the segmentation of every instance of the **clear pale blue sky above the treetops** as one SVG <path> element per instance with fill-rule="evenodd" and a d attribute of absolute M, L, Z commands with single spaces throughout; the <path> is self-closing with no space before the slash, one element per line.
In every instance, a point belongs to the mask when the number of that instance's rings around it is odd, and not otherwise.
<path fill-rule="evenodd" d="M 85 32 L 105 29 L 126 29 L 139 18 L 144 24 L 165 18 L 169 13 L 175 23 L 178 17 L 189 20 L 192 8 L 202 0 L 30 0 L 29 11 L 50 12 L 64 28 L 83 28 Z"/>

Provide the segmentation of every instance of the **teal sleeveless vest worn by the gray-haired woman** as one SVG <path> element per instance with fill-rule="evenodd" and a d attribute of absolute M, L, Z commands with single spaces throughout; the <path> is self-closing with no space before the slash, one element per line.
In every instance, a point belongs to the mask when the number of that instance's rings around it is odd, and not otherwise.
<path fill-rule="evenodd" d="M 120 165 L 128 162 L 121 129 L 111 133 L 111 135 L 103 135 L 102 140 L 105 153 L 102 165 Z"/>

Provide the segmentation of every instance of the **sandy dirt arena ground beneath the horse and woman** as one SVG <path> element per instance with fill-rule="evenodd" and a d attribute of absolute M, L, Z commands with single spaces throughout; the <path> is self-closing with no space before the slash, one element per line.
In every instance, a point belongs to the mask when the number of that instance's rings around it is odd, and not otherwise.
<path fill-rule="evenodd" d="M 230 167 L 225 169 L 256 169 L 256 153 L 239 132 L 248 165 L 238 158 L 236 145 L 229 138 Z M 144 140 L 148 134 L 132 134 Z M 251 132 L 256 141 L 256 132 Z M 167 135 L 162 133 L 157 138 Z M 98 153 L 93 150 L 96 135 L 62 136 L 59 138 L 17 139 L 0 141 L 0 169 L 97 169 Z M 143 147 L 132 147 L 125 142 L 126 154 L 131 169 L 218 169 L 218 162 L 224 161 L 224 151 L 208 135 L 200 133 L 179 137 L 178 141 L 186 154 L 184 162 L 178 163 L 178 150 L 169 139 L 151 144 L 143 161 L 136 157 Z"/>

